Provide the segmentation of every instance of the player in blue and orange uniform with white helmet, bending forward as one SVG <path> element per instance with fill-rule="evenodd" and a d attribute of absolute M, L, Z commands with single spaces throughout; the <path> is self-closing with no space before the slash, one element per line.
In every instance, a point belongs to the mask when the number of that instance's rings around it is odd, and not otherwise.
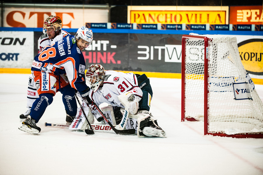
<path fill-rule="evenodd" d="M 88 47 L 92 40 L 92 31 L 83 26 L 77 30 L 76 36 L 67 35 L 46 46 L 35 56 L 31 71 L 39 98 L 34 101 L 30 115 L 18 129 L 31 134 L 41 131 L 36 123 L 52 103 L 56 89 L 60 87 L 56 84 L 57 76 L 61 74 L 67 73 L 70 85 L 79 91 L 84 100 L 87 98 L 90 88 L 85 83 L 85 60 L 81 51 Z M 77 105 L 75 108 L 77 113 Z"/>

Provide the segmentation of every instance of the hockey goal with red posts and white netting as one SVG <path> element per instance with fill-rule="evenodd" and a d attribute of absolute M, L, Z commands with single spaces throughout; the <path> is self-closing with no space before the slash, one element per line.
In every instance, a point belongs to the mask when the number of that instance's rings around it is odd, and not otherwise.
<path fill-rule="evenodd" d="M 236 37 L 183 35 L 181 121 L 205 134 L 263 138 L 263 104 L 245 71 Z"/>

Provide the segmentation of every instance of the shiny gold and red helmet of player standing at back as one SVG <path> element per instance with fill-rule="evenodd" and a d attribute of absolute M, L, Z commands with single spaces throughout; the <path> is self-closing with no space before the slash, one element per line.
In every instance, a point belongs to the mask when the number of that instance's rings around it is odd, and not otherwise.
<path fill-rule="evenodd" d="M 43 33 L 46 33 L 47 30 L 52 30 L 50 33 L 55 33 L 62 28 L 62 21 L 58 16 L 49 16 L 43 25 Z M 53 31 L 54 30 L 54 31 Z"/>

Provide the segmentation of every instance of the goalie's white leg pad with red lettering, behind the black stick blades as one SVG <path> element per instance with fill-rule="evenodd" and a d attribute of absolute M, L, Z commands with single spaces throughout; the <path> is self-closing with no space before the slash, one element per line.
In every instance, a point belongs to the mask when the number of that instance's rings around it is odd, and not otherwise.
<path fill-rule="evenodd" d="M 90 122 L 90 124 L 94 123 L 94 116 L 91 113 L 91 110 L 89 107 L 83 107 L 84 112 Z M 88 122 L 86 121 L 86 118 L 81 110 L 81 108 L 77 109 L 77 115 L 73 122 L 71 123 L 69 130 L 85 130 L 88 129 Z"/>

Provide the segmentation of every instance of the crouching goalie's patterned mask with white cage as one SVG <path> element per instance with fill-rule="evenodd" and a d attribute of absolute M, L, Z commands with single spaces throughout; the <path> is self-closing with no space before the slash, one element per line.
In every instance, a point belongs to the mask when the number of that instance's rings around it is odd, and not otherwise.
<path fill-rule="evenodd" d="M 86 81 L 93 92 L 96 92 L 105 78 L 104 68 L 100 64 L 91 65 L 86 72 Z"/>

